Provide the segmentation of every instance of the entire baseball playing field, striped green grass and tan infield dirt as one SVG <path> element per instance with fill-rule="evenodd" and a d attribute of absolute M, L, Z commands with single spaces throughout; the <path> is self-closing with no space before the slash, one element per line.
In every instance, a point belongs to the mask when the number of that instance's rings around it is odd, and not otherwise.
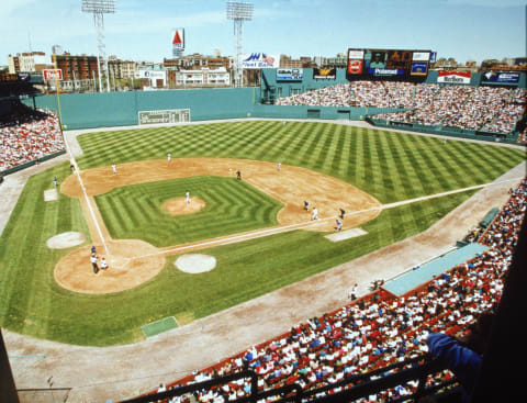
<path fill-rule="evenodd" d="M 79 175 L 63 164 L 32 177 L 0 238 L 0 326 L 92 346 L 137 342 L 164 317 L 182 326 L 417 234 L 525 159 L 513 148 L 317 122 L 77 138 Z M 53 177 L 57 198 L 46 200 Z M 321 220 L 303 210 L 306 199 Z M 326 237 L 339 208 L 344 230 L 363 235 Z M 85 240 L 49 247 L 66 233 Z M 110 261 L 98 275 L 91 245 Z M 214 257 L 214 269 L 175 265 L 194 250 Z"/>

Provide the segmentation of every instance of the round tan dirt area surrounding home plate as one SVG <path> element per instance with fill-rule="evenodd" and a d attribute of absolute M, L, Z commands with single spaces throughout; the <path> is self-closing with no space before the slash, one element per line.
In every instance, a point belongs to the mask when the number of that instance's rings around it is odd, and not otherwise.
<path fill-rule="evenodd" d="M 165 267 L 165 257 L 146 242 L 110 240 L 106 243 L 108 254 L 102 245 L 96 245 L 99 268 L 102 257 L 109 267 L 94 273 L 90 248 L 78 248 L 58 261 L 54 276 L 60 287 L 88 294 L 121 292 L 153 279 Z"/>

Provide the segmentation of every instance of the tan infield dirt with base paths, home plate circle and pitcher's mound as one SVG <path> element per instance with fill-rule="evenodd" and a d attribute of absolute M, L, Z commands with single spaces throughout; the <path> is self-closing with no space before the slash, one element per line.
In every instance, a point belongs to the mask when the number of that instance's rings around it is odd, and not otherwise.
<path fill-rule="evenodd" d="M 226 235 L 186 245 L 156 248 L 143 240 L 113 239 L 100 215 L 93 197 L 122 186 L 155 182 L 167 179 L 215 175 L 242 180 L 283 203 L 277 220 L 278 226 L 243 234 Z M 332 232 L 339 209 L 349 214 L 344 227 L 355 227 L 377 217 L 381 203 L 360 189 L 330 176 L 305 168 L 277 164 L 224 158 L 181 158 L 148 160 L 121 164 L 116 173 L 111 166 L 93 168 L 80 172 L 86 197 L 76 175 L 71 175 L 60 186 L 60 191 L 71 198 L 79 198 L 88 223 L 91 239 L 99 256 L 105 256 L 109 269 L 93 272 L 89 247 L 82 247 L 63 257 L 55 267 L 55 280 L 70 291 L 83 293 L 111 293 L 139 286 L 159 273 L 165 266 L 165 257 L 198 250 L 211 246 L 226 245 L 257 237 L 269 236 L 293 230 Z M 304 210 L 304 200 L 311 204 Z M 194 213 L 203 206 L 199 199 L 189 205 L 186 199 L 175 199 L 164 209 L 172 213 Z M 311 210 L 318 210 L 319 220 L 311 220 Z"/>

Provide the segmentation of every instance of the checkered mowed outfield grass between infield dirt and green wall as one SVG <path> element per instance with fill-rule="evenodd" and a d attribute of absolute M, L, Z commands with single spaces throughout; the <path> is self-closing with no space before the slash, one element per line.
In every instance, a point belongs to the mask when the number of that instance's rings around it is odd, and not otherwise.
<path fill-rule="evenodd" d="M 79 136 L 81 169 L 134 160 L 224 157 L 302 166 L 391 203 L 492 181 L 525 155 L 485 144 L 314 122 L 235 122 Z"/>

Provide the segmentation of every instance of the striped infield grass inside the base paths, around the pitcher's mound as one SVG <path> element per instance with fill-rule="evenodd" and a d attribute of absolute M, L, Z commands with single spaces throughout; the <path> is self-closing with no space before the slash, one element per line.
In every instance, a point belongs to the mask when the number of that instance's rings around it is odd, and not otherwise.
<path fill-rule="evenodd" d="M 171 216 L 165 203 L 191 198 L 205 208 Z M 235 178 L 191 177 L 113 189 L 96 197 L 104 223 L 116 239 L 143 239 L 157 247 L 179 245 L 277 225 L 282 203 Z"/>

